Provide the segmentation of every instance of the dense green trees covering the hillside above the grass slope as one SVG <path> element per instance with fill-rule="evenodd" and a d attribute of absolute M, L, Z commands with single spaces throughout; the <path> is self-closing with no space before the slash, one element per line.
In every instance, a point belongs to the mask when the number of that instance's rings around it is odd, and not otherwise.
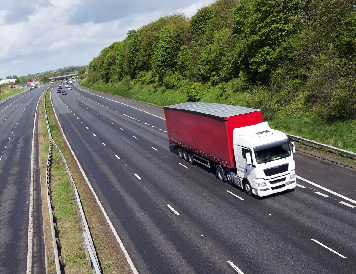
<path fill-rule="evenodd" d="M 199 101 L 207 87 L 265 118 L 356 118 L 356 0 L 218 0 L 131 30 L 89 64 L 88 83 L 141 83 Z"/>

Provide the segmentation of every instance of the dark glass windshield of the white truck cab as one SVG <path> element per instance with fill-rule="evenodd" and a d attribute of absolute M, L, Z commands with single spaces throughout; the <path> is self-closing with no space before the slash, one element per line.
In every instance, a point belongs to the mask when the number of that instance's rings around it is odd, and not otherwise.
<path fill-rule="evenodd" d="M 255 147 L 257 164 L 267 163 L 290 156 L 289 140 L 278 141 Z"/>

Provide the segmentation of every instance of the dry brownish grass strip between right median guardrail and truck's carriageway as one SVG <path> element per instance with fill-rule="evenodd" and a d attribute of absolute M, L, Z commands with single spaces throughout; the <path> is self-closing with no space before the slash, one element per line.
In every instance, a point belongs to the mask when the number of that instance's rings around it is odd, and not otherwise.
<path fill-rule="evenodd" d="M 49 94 L 47 94 L 46 97 L 46 109 L 52 138 L 66 158 L 73 180 L 77 186 L 103 273 L 132 273 L 126 257 L 121 251 L 119 243 L 116 241 L 108 223 L 102 215 L 101 209 L 96 203 L 93 193 L 89 189 L 87 182 L 80 172 L 80 169 L 70 153 L 64 138 L 62 138 L 59 126 L 56 123 L 56 119 L 52 111 L 52 106 L 50 105 Z"/>

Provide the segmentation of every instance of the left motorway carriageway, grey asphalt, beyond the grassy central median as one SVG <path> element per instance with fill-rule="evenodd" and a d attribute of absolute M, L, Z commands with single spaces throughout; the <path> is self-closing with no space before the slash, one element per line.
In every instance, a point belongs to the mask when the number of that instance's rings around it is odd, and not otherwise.
<path fill-rule="evenodd" d="M 33 130 L 46 88 L 23 91 L 0 104 L 0 273 L 46 270 L 37 130 Z"/>

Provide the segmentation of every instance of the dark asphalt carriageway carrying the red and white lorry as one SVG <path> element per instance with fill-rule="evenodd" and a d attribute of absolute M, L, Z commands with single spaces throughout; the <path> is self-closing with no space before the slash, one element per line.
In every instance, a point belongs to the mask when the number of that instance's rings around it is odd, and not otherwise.
<path fill-rule="evenodd" d="M 169 151 L 161 108 L 76 86 L 52 103 L 138 273 L 355 272 L 354 171 L 297 153 L 297 188 L 250 197 Z"/>

